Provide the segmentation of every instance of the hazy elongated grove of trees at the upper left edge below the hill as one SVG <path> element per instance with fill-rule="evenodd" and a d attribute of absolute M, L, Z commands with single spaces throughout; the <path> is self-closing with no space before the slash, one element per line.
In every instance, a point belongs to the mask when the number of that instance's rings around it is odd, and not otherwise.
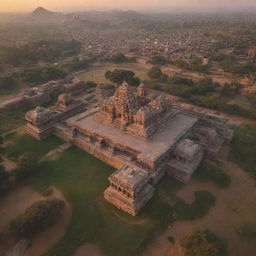
<path fill-rule="evenodd" d="M 12 65 L 54 62 L 62 57 L 78 54 L 82 45 L 76 40 L 29 42 L 22 47 L 5 48 L 0 52 L 0 62 Z"/>

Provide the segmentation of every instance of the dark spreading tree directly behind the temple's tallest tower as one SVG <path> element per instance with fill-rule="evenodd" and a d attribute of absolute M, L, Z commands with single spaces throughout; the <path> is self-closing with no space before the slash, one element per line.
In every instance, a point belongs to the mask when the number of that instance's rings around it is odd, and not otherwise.
<path fill-rule="evenodd" d="M 114 71 L 106 71 L 105 78 L 117 84 L 122 84 L 126 81 L 129 85 L 138 86 L 141 81 L 135 76 L 135 73 L 130 70 L 115 69 Z"/>

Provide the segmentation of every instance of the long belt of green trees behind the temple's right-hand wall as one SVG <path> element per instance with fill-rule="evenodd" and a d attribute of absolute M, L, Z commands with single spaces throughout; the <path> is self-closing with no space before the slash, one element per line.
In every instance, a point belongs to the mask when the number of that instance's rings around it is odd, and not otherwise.
<path fill-rule="evenodd" d="M 228 104 L 225 96 L 240 93 L 242 85 L 237 82 L 226 83 L 220 90 L 220 84 L 207 77 L 199 81 L 190 78 L 163 74 L 159 67 L 153 67 L 148 72 L 152 79 L 146 81 L 147 85 L 155 90 L 162 90 L 172 95 L 185 98 L 188 102 L 217 111 L 223 111 L 232 115 L 255 119 L 255 111 L 244 109 L 236 104 Z"/>

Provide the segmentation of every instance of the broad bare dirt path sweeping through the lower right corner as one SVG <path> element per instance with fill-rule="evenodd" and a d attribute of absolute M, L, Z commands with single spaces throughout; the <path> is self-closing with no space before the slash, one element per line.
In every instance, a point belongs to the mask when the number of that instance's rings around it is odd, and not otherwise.
<path fill-rule="evenodd" d="M 207 216 L 195 221 L 175 222 L 162 236 L 150 244 L 143 256 L 183 256 L 179 241 L 194 229 L 210 229 L 228 241 L 229 255 L 256 255 L 256 243 L 253 239 L 241 238 L 237 230 L 243 225 L 256 224 L 256 186 L 243 170 L 225 159 L 226 149 L 220 153 L 220 160 L 224 161 L 224 170 L 232 178 L 228 189 L 220 189 L 212 183 L 191 181 L 178 191 L 177 195 L 187 202 L 194 200 L 194 192 L 208 190 L 216 197 L 216 205 Z M 168 236 L 175 238 L 173 246 Z"/>

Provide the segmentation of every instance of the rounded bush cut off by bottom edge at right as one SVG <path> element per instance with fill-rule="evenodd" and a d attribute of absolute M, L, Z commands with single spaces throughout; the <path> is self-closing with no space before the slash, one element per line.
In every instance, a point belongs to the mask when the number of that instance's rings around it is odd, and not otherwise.
<path fill-rule="evenodd" d="M 226 256 L 227 245 L 224 240 L 208 230 L 198 230 L 181 242 L 185 256 Z"/>

